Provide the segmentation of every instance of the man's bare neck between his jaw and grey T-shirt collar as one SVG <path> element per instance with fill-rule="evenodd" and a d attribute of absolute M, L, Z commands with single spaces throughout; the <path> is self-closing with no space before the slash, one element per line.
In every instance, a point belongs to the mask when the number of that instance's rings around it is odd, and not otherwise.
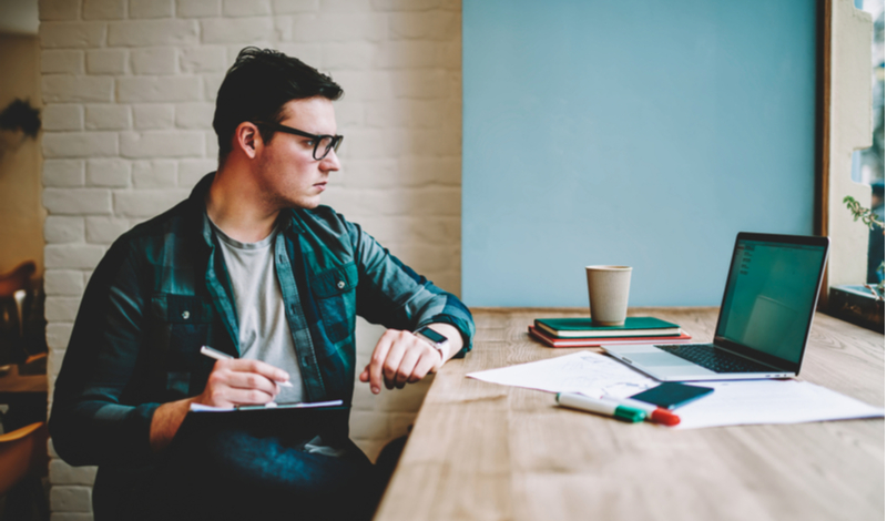
<path fill-rule="evenodd" d="M 274 229 L 278 208 L 263 201 L 252 177 L 225 168 L 216 172 L 206 193 L 206 214 L 228 237 L 242 243 L 257 243 Z"/>

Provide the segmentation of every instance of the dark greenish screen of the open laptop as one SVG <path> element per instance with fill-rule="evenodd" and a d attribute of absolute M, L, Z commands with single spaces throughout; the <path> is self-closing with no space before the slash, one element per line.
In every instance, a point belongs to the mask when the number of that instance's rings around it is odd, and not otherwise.
<path fill-rule="evenodd" d="M 799 364 L 826 251 L 740 237 L 715 338 Z"/>

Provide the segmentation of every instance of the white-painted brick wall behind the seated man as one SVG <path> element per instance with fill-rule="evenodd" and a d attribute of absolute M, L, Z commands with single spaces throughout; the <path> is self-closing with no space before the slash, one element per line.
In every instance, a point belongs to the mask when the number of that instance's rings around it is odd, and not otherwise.
<path fill-rule="evenodd" d="M 40 0 L 50 382 L 108 246 L 215 168 L 215 93 L 247 44 L 343 85 L 344 168 L 324 202 L 458 293 L 460 10 L 459 0 Z M 359 321 L 359 369 L 380 333 Z M 371 458 L 406 433 L 428 384 L 373 396 L 358 382 L 351 436 Z M 92 519 L 94 469 L 51 454 L 52 519 Z"/>

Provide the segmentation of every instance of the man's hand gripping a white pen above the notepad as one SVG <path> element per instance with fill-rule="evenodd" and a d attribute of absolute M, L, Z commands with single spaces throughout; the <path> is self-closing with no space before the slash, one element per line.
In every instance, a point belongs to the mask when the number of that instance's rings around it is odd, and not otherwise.
<path fill-rule="evenodd" d="M 281 392 L 277 382 L 288 379 L 286 371 L 264 361 L 217 360 L 206 387 L 193 401 L 213 407 L 267 403 Z"/>

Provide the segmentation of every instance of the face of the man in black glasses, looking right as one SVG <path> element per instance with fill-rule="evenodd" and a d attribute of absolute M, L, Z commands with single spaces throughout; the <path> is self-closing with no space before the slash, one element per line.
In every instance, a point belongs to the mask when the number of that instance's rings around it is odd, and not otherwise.
<path fill-rule="evenodd" d="M 333 102 L 322 96 L 289 101 L 284 105 L 281 124 L 310 134 L 335 135 Z M 284 132 L 276 132 L 264 143 L 257 157 L 257 175 L 267 202 L 276 210 L 315 208 L 320 204 L 329 173 L 339 170 L 340 164 L 334 150 L 320 161 L 313 153 L 314 140 Z"/>

